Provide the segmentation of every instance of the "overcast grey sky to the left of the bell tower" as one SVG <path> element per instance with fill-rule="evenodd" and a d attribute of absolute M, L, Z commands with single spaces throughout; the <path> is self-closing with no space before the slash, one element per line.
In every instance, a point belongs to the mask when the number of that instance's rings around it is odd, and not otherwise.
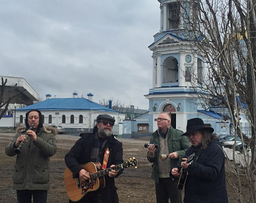
<path fill-rule="evenodd" d="M 44 100 L 114 98 L 148 109 L 158 0 L 8 0 L 0 7 L 0 75 Z"/>

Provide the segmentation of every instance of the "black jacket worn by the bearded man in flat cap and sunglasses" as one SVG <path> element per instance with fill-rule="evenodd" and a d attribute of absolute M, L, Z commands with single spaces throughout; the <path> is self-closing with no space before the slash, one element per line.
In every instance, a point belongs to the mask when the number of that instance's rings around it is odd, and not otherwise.
<path fill-rule="evenodd" d="M 97 128 L 97 127 L 96 127 Z M 71 150 L 65 156 L 65 163 L 67 167 L 72 171 L 73 177 L 79 177 L 79 171 L 82 169 L 81 164 L 84 165 L 90 162 L 91 151 L 94 144 L 94 136 L 96 132 L 96 128 L 94 128 L 94 132 L 92 134 L 81 134 L 81 138 L 75 143 L 75 145 L 71 148 Z M 112 164 L 118 165 L 123 163 L 123 147 L 122 143 L 114 138 L 112 135 L 108 138 L 105 146 L 105 149 L 109 148 L 110 156 L 108 158 L 107 168 L 110 168 Z M 103 163 L 104 153 L 101 156 L 101 165 Z M 118 175 L 122 173 L 122 170 L 118 171 Z M 116 176 L 116 177 L 117 177 Z M 105 187 L 100 191 L 101 193 L 101 201 L 102 203 L 118 203 L 118 195 L 117 188 L 114 185 L 114 177 L 109 177 L 105 175 Z M 93 202 L 94 197 L 90 197 L 88 200 L 81 199 L 79 202 Z"/>

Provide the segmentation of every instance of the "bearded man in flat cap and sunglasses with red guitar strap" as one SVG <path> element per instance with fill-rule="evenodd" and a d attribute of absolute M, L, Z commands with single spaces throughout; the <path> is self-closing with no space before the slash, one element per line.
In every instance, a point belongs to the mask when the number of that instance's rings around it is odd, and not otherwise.
<path fill-rule="evenodd" d="M 123 163 L 122 143 L 116 140 L 112 134 L 115 119 L 108 114 L 97 116 L 97 123 L 92 133 L 81 134 L 81 138 L 75 143 L 65 156 L 65 163 L 72 171 L 73 178 L 79 178 L 80 182 L 90 179 L 89 172 L 81 167 L 89 162 L 100 162 L 103 169 L 114 167 Z M 122 170 L 111 170 L 105 175 L 105 187 L 91 192 L 88 198 L 84 196 L 79 203 L 118 203 L 117 188 L 114 178 L 122 173 Z M 69 202 L 73 202 L 69 200 Z"/>

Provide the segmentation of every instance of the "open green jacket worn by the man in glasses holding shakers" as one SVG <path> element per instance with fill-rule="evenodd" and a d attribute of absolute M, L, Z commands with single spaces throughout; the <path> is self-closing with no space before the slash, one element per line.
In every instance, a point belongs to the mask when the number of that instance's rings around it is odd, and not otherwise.
<path fill-rule="evenodd" d="M 177 165 L 181 164 L 182 158 L 185 156 L 185 152 L 188 148 L 190 148 L 190 142 L 187 139 L 187 136 L 181 136 L 184 132 L 181 130 L 176 130 L 170 126 L 168 131 L 168 137 L 167 137 L 167 146 L 169 149 L 169 153 L 177 152 L 178 158 L 177 159 L 171 159 L 171 168 L 176 167 Z M 150 138 L 150 144 L 157 144 L 159 145 L 159 134 L 158 130 L 156 130 L 151 138 Z M 154 181 L 159 183 L 159 177 L 158 177 L 158 149 L 156 148 L 154 156 L 150 157 L 149 152 L 147 154 L 147 158 L 150 163 L 153 163 L 152 165 L 152 178 Z"/>

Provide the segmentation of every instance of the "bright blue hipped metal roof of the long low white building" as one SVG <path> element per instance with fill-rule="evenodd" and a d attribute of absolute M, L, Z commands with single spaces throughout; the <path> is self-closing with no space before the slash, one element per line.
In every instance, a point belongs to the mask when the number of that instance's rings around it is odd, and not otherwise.
<path fill-rule="evenodd" d="M 30 106 L 19 108 L 16 111 L 30 111 L 31 109 L 38 109 L 39 111 L 92 110 L 117 113 L 117 111 L 114 111 L 113 109 L 89 101 L 86 98 L 51 98 Z"/>

